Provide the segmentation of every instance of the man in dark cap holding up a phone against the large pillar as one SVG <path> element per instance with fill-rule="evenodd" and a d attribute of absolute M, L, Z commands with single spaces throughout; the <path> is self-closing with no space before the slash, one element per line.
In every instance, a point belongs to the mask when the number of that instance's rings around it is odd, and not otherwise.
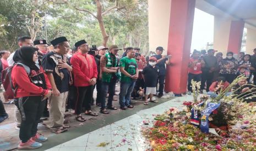
<path fill-rule="evenodd" d="M 157 59 L 156 66 L 159 67 L 159 79 L 158 79 L 158 83 L 159 83 L 158 96 L 159 97 L 162 97 L 162 95 L 164 94 L 165 73 L 166 73 L 165 64 L 170 65 L 170 59 L 171 59 L 171 55 L 168 55 L 168 56 L 162 55 L 162 51 L 164 51 L 164 48 L 157 47 L 156 55 L 153 55 Z"/>

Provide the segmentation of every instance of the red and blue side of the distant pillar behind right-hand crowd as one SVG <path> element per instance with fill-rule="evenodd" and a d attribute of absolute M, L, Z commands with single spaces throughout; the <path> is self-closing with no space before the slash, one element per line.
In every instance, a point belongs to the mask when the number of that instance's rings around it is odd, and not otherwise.
<path fill-rule="evenodd" d="M 243 38 L 244 21 L 237 20 L 231 22 L 230 36 L 228 39 L 227 50 L 238 54 L 241 51 L 241 43 Z"/>

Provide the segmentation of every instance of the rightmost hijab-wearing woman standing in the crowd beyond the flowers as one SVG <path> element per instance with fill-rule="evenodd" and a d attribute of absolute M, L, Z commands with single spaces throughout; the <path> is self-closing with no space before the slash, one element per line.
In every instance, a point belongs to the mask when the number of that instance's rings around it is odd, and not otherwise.
<path fill-rule="evenodd" d="M 239 62 L 237 74 L 243 74 L 249 82 L 253 71 L 255 71 L 255 68 L 252 67 L 252 63 L 250 62 L 250 55 L 244 55 L 242 61 Z"/>

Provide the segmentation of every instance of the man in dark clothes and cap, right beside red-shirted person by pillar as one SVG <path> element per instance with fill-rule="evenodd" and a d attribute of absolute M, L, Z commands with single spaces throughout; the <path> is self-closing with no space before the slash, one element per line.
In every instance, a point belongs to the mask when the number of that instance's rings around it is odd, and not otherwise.
<path fill-rule="evenodd" d="M 201 86 L 200 93 L 203 93 L 205 82 L 206 82 L 206 91 L 209 91 L 210 85 L 213 82 L 214 71 L 217 69 L 217 57 L 214 56 L 216 50 L 209 49 L 207 51 L 207 55 L 203 56 L 203 61 L 205 62 L 205 66 L 202 68 L 202 78 L 201 78 Z"/>

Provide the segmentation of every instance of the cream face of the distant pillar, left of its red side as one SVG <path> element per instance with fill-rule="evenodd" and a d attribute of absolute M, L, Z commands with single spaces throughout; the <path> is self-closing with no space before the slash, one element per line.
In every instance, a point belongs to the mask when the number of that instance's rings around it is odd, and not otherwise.
<path fill-rule="evenodd" d="M 227 53 L 228 39 L 230 37 L 231 19 L 214 16 L 214 49 L 224 56 Z"/>

